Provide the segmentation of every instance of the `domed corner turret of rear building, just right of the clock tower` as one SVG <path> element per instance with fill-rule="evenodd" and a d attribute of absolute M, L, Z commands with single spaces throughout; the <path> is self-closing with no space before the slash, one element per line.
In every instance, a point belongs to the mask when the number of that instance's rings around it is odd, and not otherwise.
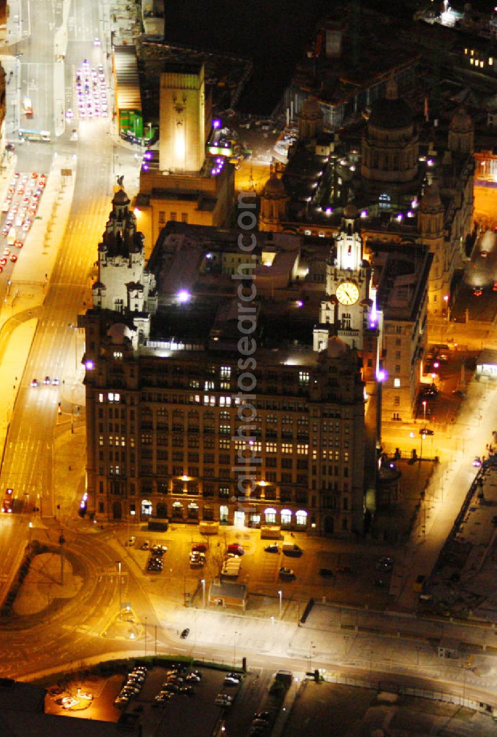
<path fill-rule="evenodd" d="M 445 263 L 443 221 L 445 208 L 440 199 L 438 182 L 426 186 L 417 212 L 417 228 L 421 242 L 433 254 L 428 279 L 428 310 L 430 315 L 440 315 L 445 310 L 444 296 L 450 290 L 450 269 Z"/>

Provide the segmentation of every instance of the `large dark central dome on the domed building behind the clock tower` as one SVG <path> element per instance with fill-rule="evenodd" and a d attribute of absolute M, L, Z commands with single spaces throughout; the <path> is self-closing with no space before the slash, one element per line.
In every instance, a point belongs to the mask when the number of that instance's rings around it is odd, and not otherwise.
<path fill-rule="evenodd" d="M 373 102 L 362 136 L 361 175 L 381 190 L 385 184 L 412 181 L 417 170 L 418 137 L 412 114 L 391 79 L 385 97 Z"/>

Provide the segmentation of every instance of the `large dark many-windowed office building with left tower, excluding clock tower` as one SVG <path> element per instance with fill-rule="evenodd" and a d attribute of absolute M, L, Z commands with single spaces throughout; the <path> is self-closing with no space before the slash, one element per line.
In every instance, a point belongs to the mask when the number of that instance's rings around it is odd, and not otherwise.
<path fill-rule="evenodd" d="M 188 237 L 182 241 L 180 234 Z M 233 242 L 237 235 L 233 231 Z M 238 282 L 231 278 L 239 266 L 226 266 L 211 294 L 212 275 L 202 267 L 216 251 L 216 238 L 222 250 L 226 231 L 169 223 L 146 269 L 129 200 L 122 190 L 113 198 L 99 245 L 94 307 L 80 317 L 88 511 L 102 520 L 135 515 L 360 533 L 365 439 L 358 352 L 335 335 L 313 350 L 311 322 L 299 326 L 303 338 L 295 339 L 286 301 L 277 307 L 274 298 L 256 298 L 249 395 L 255 415 L 247 422 L 244 366 L 237 358 Z M 264 248 L 259 269 L 269 253 Z M 273 248 L 294 254 L 284 239 Z M 185 263 L 185 273 L 188 262 L 197 264 L 188 290 L 172 254 Z M 286 279 L 295 278 L 289 270 Z M 173 282 L 182 286 L 178 293 Z M 247 284 L 242 289 L 248 291 Z"/>

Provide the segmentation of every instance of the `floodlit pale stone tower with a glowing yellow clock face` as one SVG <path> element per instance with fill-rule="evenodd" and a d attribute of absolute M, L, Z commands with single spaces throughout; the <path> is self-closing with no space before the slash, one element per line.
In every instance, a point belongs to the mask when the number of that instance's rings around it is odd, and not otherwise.
<path fill-rule="evenodd" d="M 314 327 L 314 351 L 325 349 L 331 335 L 342 338 L 350 348 L 363 349 L 371 306 L 371 270 L 362 259 L 358 219 L 356 206 L 348 205 L 335 239 L 336 254 L 331 253 L 326 264 L 326 296 L 321 301 L 320 322 Z"/>

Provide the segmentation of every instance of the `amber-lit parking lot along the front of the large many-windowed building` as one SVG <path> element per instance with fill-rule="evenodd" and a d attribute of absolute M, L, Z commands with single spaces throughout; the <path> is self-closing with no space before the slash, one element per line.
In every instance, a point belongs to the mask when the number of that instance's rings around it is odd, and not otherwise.
<path fill-rule="evenodd" d="M 384 606 L 389 601 L 388 589 L 390 572 L 378 576 L 376 560 L 392 551 L 385 546 L 372 545 L 364 549 L 364 545 L 355 542 L 324 540 L 295 534 L 289 538 L 303 550 L 300 557 L 286 556 L 282 552 L 283 541 L 278 541 L 278 552 L 264 551 L 274 541 L 260 539 L 260 532 L 230 531 L 200 538 L 198 531 L 191 528 L 169 528 L 165 533 L 135 531 L 135 543 L 127 546 L 127 537 L 121 539 L 127 559 L 140 576 L 149 581 L 149 594 L 157 602 L 156 610 L 161 611 L 164 602 L 183 606 L 202 608 L 202 579 L 205 581 L 206 593 L 211 581 L 219 576 L 222 570 L 228 545 L 238 542 L 244 554 L 241 557 L 239 575 L 228 580 L 247 584 L 249 599 L 247 613 L 252 616 L 269 616 L 278 612 L 278 591 L 282 592 L 283 616 L 289 609 L 302 608 L 311 596 L 323 596 L 333 601 L 348 601 L 354 604 L 375 604 Z M 141 550 L 144 543 L 149 548 L 154 545 L 165 545 L 163 566 L 157 570 L 149 567 L 150 550 Z M 198 565 L 191 563 L 191 548 L 195 544 L 205 543 L 205 562 Z M 280 574 L 281 567 L 293 571 L 293 576 Z M 331 571 L 331 575 L 321 575 L 320 569 Z M 337 570 L 339 569 L 339 570 Z M 376 585 L 377 579 L 383 581 Z M 252 598 L 251 598 L 252 595 Z M 206 596 L 205 607 L 210 608 Z M 265 603 L 261 607 L 261 602 Z M 211 608 L 215 608 L 214 605 Z M 271 611 L 269 611 L 271 609 Z M 274 609 L 274 611 L 273 611 Z"/>

